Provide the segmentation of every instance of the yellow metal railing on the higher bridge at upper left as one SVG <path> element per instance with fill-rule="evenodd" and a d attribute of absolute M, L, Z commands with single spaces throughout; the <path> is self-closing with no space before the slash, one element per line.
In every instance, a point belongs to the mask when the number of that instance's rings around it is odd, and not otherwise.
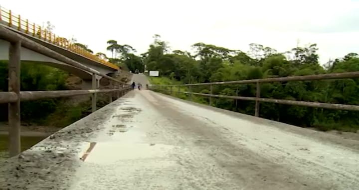
<path fill-rule="evenodd" d="M 19 14 L 14 14 L 11 12 L 11 10 L 5 9 L 1 6 L 0 6 L 0 22 L 2 23 L 5 22 L 11 28 L 17 29 L 18 31 L 24 32 L 36 38 L 47 41 L 48 43 L 63 47 L 72 52 L 87 57 L 91 60 L 107 65 L 111 68 L 117 70 L 119 69 L 117 65 L 112 64 L 104 59 L 101 59 L 100 57 L 92 54 L 91 52 L 85 50 L 84 48 L 69 42 L 66 38 L 59 37 L 58 35 L 55 35 L 51 31 L 47 31 L 46 29 L 41 28 L 40 25 L 35 24 L 33 22 L 29 22 L 28 19 L 24 19 Z"/>

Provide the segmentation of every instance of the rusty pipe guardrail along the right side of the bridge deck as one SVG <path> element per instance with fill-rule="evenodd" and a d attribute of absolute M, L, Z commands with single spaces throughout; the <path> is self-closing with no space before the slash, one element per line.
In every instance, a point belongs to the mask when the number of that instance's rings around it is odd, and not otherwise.
<path fill-rule="evenodd" d="M 332 104 L 322 102 L 307 102 L 307 101 L 296 101 L 296 100 L 282 100 L 273 98 L 261 98 L 260 97 L 260 83 L 266 82 L 288 82 L 288 81 L 311 81 L 311 80 L 330 80 L 330 79 L 345 79 L 345 78 L 359 78 L 359 72 L 343 72 L 343 73 L 330 73 L 330 74 L 318 74 L 318 75 L 305 75 L 305 76 L 289 76 L 280 78 L 264 78 L 264 79 L 252 79 L 252 80 L 239 80 L 239 81 L 222 81 L 222 82 L 209 82 L 209 83 L 195 83 L 195 84 L 178 84 L 178 85 L 152 85 L 152 88 L 159 88 L 159 91 L 169 91 L 171 94 L 174 92 L 173 87 L 178 87 L 177 94 L 184 93 L 189 95 L 206 96 L 209 97 L 209 105 L 212 105 L 212 97 L 215 98 L 229 98 L 237 100 L 249 100 L 255 101 L 255 116 L 259 117 L 259 102 L 271 102 L 277 104 L 287 104 L 296 106 L 307 106 L 315 108 L 327 108 L 337 110 L 350 110 L 359 111 L 359 105 L 347 105 L 347 104 Z M 245 97 L 245 96 L 226 96 L 213 94 L 213 85 L 228 85 L 228 84 L 256 84 L 256 97 Z M 210 86 L 209 94 L 191 92 L 191 86 Z M 180 87 L 187 86 L 189 92 L 181 92 Z M 170 87 L 170 90 L 162 89 L 164 87 Z"/>

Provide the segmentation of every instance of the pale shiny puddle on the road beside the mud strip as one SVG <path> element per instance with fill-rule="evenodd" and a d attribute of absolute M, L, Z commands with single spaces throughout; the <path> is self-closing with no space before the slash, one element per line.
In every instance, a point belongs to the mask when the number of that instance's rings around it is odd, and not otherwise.
<path fill-rule="evenodd" d="M 138 127 L 144 123 L 136 121 L 141 112 L 142 109 L 135 105 L 120 107 L 106 126 L 106 135 L 98 136 L 96 143 L 84 144 L 79 158 L 85 158 L 86 163 L 108 164 L 120 160 L 164 157 L 173 146 L 148 141 L 146 128 Z M 83 157 L 85 154 L 86 157 Z"/>

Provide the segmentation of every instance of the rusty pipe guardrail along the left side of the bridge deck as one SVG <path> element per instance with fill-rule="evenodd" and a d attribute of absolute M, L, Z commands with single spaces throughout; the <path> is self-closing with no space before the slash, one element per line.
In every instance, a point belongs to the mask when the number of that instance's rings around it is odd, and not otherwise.
<path fill-rule="evenodd" d="M 96 94 L 110 93 L 110 101 L 112 101 L 113 94 L 116 92 L 116 97 L 120 93 L 130 91 L 131 85 L 112 78 L 110 76 L 101 74 L 100 72 L 91 69 L 79 62 L 69 59 L 43 45 L 40 45 L 16 32 L 0 26 L 0 38 L 9 41 L 9 60 L 8 60 L 8 92 L 0 92 L 0 103 L 8 103 L 8 125 L 9 127 L 9 155 L 15 156 L 20 153 L 20 101 L 37 100 L 42 98 L 59 98 L 66 96 L 76 96 L 91 94 L 92 112 L 96 111 Z M 21 61 L 21 46 L 26 47 L 35 52 L 44 54 L 56 60 L 70 64 L 76 68 L 92 73 L 92 89 L 91 90 L 60 90 L 60 91 L 29 91 L 20 92 L 20 61 Z M 111 89 L 97 89 L 96 76 L 102 76 L 109 79 Z M 115 84 L 114 84 L 115 82 Z M 122 86 L 122 89 L 120 87 Z"/>

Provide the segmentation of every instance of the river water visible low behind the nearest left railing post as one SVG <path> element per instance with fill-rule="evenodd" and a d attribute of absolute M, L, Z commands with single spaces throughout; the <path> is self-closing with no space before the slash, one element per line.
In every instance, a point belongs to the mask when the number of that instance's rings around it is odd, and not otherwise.
<path fill-rule="evenodd" d="M 25 151 L 37 144 L 46 136 L 21 136 L 21 151 Z M 0 135 L 0 160 L 8 158 L 8 135 Z"/>

